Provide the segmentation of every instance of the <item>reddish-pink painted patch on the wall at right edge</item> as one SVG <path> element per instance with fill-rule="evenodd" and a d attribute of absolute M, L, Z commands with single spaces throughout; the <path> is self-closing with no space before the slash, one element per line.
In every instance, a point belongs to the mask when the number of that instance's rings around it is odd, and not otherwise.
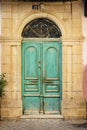
<path fill-rule="evenodd" d="M 83 95 L 87 102 L 87 65 L 83 67 Z"/>

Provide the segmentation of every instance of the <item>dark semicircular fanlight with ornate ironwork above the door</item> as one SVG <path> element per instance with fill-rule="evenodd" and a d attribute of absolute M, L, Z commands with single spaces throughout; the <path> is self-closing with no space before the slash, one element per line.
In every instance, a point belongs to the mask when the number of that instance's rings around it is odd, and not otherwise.
<path fill-rule="evenodd" d="M 22 32 L 24 38 L 59 38 L 61 30 L 51 20 L 38 18 L 28 23 Z"/>

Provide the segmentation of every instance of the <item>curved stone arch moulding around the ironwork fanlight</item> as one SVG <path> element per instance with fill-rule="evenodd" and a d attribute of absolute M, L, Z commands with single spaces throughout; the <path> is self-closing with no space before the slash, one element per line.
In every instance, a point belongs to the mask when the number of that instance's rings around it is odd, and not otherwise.
<path fill-rule="evenodd" d="M 57 17 L 48 14 L 48 13 L 34 13 L 32 15 L 28 15 L 24 18 L 24 20 L 21 22 L 21 24 L 19 25 L 19 28 L 17 30 L 17 36 L 18 38 L 21 38 L 21 33 L 25 27 L 25 25 L 27 25 L 30 21 L 37 19 L 37 18 L 47 18 L 51 21 L 53 21 L 61 30 L 62 32 L 62 36 L 64 37 L 65 35 L 65 30 L 64 30 L 64 26 L 63 26 L 63 22 L 62 20 L 58 19 Z"/>

